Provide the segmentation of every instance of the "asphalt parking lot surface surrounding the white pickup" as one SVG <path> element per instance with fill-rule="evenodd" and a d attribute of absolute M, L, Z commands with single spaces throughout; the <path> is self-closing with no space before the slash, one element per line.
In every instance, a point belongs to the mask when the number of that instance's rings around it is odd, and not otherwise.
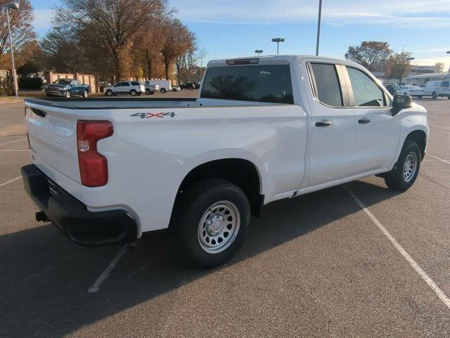
<path fill-rule="evenodd" d="M 164 232 L 92 249 L 37 223 L 23 104 L 0 106 L 0 337 L 450 337 L 450 101 L 416 102 L 408 192 L 368 177 L 269 204 L 213 270 L 171 261 Z"/>

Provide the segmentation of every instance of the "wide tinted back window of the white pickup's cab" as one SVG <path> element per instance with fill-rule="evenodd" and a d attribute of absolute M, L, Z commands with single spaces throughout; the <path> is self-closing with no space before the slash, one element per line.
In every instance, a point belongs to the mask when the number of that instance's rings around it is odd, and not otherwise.
<path fill-rule="evenodd" d="M 289 65 L 231 65 L 208 68 L 200 97 L 294 104 Z"/>

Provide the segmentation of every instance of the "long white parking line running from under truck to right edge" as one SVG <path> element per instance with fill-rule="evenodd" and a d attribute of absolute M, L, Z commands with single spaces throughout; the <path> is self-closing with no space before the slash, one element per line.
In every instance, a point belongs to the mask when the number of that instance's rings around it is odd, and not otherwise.
<path fill-rule="evenodd" d="M 416 261 L 414 261 L 413 258 L 409 256 L 409 253 L 407 253 L 405 249 L 403 249 L 403 247 L 399 244 L 399 242 L 397 242 L 397 240 L 394 239 L 394 237 L 392 237 L 392 235 L 386 230 L 386 228 L 380 223 L 380 221 L 377 220 L 377 218 L 375 218 L 373 213 L 371 213 L 368 210 L 368 208 L 358 199 L 358 197 L 356 197 L 356 195 L 353 194 L 347 187 L 345 187 L 345 189 L 347 189 L 347 192 L 350 194 L 350 196 L 352 196 L 356 204 L 358 204 L 361 207 L 361 209 L 363 209 L 363 211 L 368 215 L 368 217 L 371 218 L 373 223 L 375 223 L 375 225 L 381 230 L 381 232 L 385 234 L 387 239 L 389 239 L 390 242 L 395 246 L 395 249 L 397 249 L 399 253 L 401 253 L 401 256 L 403 256 L 406 259 L 406 261 L 413 267 L 413 269 L 416 270 L 416 273 L 418 273 L 418 275 L 422 277 L 425 283 L 428 284 L 428 286 L 435 292 L 435 294 L 437 294 L 439 299 L 441 299 L 441 301 L 447 306 L 447 308 L 450 309 L 450 299 L 444 294 L 444 292 L 442 292 L 442 290 L 439 289 L 436 283 L 433 282 L 433 280 L 430 277 L 428 277 L 425 271 L 423 271 L 423 269 L 420 268 L 418 263 L 416 263 Z"/>

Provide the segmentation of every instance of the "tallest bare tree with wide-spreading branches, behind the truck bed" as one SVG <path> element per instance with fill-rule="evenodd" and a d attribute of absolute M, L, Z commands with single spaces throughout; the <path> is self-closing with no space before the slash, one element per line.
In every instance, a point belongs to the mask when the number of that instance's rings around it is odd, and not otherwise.
<path fill-rule="evenodd" d="M 60 0 L 56 23 L 101 47 L 120 80 L 129 63 L 131 40 L 143 25 L 160 18 L 164 8 L 164 0 Z"/>

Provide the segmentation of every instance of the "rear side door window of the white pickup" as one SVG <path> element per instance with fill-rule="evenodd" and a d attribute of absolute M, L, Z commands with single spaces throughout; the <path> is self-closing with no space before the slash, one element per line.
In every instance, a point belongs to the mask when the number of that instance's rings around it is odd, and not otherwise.
<path fill-rule="evenodd" d="M 342 93 L 335 65 L 311 63 L 311 68 L 317 99 L 327 106 L 342 107 Z"/>

